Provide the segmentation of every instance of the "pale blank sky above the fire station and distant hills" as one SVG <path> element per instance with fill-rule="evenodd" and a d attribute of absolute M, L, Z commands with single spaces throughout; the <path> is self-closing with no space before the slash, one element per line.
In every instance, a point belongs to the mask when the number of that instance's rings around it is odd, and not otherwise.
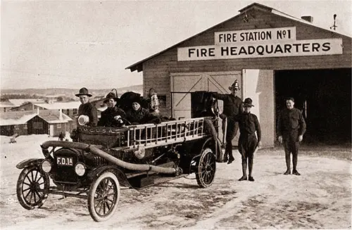
<path fill-rule="evenodd" d="M 110 89 L 125 70 L 257 2 L 352 34 L 352 1 L 1 1 L 1 89 Z"/>

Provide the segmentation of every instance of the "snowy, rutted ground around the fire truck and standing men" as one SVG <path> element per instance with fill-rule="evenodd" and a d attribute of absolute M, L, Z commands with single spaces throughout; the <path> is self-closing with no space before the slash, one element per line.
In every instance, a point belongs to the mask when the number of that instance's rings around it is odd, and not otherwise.
<path fill-rule="evenodd" d="M 87 200 L 49 195 L 42 208 L 25 210 L 15 184 L 26 158 L 42 158 L 45 135 L 1 136 L 1 229 L 351 229 L 351 148 L 305 147 L 301 176 L 283 175 L 281 148 L 256 153 L 254 182 L 241 177 L 235 162 L 217 165 L 215 181 L 199 189 L 194 174 L 146 189 L 123 189 L 118 211 L 94 222 Z M 56 140 L 56 138 L 54 139 Z"/>

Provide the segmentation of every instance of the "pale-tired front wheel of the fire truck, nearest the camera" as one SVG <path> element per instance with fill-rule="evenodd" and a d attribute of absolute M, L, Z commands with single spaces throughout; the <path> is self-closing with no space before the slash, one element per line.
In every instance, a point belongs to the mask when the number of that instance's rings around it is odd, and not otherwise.
<path fill-rule="evenodd" d="M 111 218 L 118 208 L 120 184 L 112 172 L 103 172 L 90 186 L 88 193 L 89 214 L 96 222 Z"/>

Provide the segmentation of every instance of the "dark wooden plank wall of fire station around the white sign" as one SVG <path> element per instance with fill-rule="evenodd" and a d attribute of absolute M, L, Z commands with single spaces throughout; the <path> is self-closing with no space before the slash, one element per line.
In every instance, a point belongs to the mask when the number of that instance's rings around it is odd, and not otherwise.
<path fill-rule="evenodd" d="M 296 39 L 342 38 L 343 54 L 330 56 L 296 56 L 279 58 L 241 58 L 226 60 L 197 60 L 177 62 L 177 47 L 161 53 L 143 63 L 144 95 L 151 87 L 158 95 L 166 96 L 163 115 L 171 115 L 170 73 L 179 72 L 227 72 L 244 69 L 261 70 L 309 70 L 329 68 L 351 68 L 351 38 L 323 30 L 306 23 L 252 8 L 246 12 L 249 22 L 244 23 L 241 15 L 210 28 L 196 37 L 182 42 L 178 47 L 214 44 L 214 33 L 233 30 L 253 30 L 275 27 L 296 27 Z M 187 84 L 187 82 L 184 82 Z"/>

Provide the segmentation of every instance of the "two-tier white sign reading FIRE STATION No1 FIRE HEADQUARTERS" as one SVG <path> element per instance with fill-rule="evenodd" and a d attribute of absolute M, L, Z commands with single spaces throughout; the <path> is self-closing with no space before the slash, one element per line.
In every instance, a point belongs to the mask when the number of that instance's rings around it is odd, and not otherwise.
<path fill-rule="evenodd" d="M 177 49 L 177 60 L 272 58 L 341 54 L 342 39 L 296 40 L 296 27 L 215 32 L 215 44 Z"/>

